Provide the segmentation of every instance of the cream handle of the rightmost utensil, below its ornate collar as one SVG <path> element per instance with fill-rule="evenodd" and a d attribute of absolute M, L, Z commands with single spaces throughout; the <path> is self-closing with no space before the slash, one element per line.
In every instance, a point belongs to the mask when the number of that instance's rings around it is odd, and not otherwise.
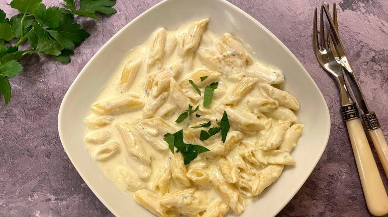
<path fill-rule="evenodd" d="M 369 135 L 371 135 L 381 164 L 383 164 L 384 171 L 388 177 L 388 145 L 386 139 L 384 138 L 383 132 L 381 131 L 381 128 L 378 128 L 375 130 L 370 130 Z"/>

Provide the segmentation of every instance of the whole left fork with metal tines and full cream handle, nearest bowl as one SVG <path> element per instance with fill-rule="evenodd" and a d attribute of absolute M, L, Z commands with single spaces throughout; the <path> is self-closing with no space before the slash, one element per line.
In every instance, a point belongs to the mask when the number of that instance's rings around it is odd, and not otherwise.
<path fill-rule="evenodd" d="M 365 135 L 356 103 L 349 95 L 342 73 L 342 65 L 337 62 L 329 47 L 331 39 L 328 32 L 326 36 L 328 42 L 325 40 L 323 10 L 324 8 L 321 6 L 320 45 L 318 41 L 317 9 L 315 8 L 314 11 L 313 45 L 315 56 L 322 68 L 333 75 L 338 83 L 341 95 L 341 112 L 348 129 L 369 212 L 375 216 L 384 216 L 388 213 L 388 196 Z"/>

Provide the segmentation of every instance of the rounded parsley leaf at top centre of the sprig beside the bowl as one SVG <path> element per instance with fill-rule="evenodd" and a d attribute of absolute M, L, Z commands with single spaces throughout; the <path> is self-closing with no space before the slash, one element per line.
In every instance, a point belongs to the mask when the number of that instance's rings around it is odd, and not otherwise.
<path fill-rule="evenodd" d="M 47 28 L 58 28 L 59 22 L 62 19 L 62 12 L 58 10 L 58 7 L 49 7 L 40 3 L 34 12 L 36 21 L 42 26 Z"/>

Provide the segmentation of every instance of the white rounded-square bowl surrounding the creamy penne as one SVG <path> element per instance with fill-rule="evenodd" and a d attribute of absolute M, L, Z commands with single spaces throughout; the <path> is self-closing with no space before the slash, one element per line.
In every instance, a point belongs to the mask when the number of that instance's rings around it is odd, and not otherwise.
<path fill-rule="evenodd" d="M 121 192 L 93 162 L 83 141 L 84 119 L 124 54 L 141 45 L 158 27 L 175 30 L 185 22 L 204 17 L 210 18 L 209 27 L 215 33 L 229 32 L 240 37 L 261 59 L 283 70 L 284 87 L 299 101 L 298 122 L 305 125 L 291 153 L 297 165 L 286 166 L 280 178 L 241 217 L 278 214 L 303 185 L 326 147 L 330 133 L 326 102 L 307 71 L 279 39 L 225 0 L 165 0 L 128 23 L 92 57 L 70 86 L 59 109 L 58 130 L 63 148 L 90 189 L 116 217 L 154 215 L 138 205 L 132 195 Z"/>

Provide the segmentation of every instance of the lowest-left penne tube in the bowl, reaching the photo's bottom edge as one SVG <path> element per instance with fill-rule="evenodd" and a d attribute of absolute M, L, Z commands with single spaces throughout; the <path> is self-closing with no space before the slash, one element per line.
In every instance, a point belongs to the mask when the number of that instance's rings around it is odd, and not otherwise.
<path fill-rule="evenodd" d="M 159 217 L 179 217 L 179 213 L 163 206 L 159 202 L 158 196 L 151 193 L 149 190 L 142 189 L 136 191 L 135 199 L 137 203 L 143 205 L 145 208 Z"/>

